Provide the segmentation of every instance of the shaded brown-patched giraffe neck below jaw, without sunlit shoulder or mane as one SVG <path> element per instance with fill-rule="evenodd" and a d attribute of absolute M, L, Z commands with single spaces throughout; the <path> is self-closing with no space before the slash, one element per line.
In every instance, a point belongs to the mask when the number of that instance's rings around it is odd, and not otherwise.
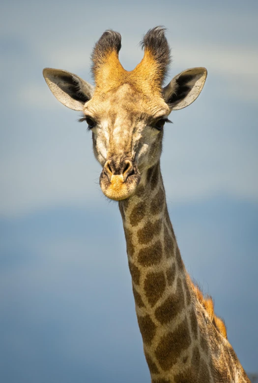
<path fill-rule="evenodd" d="M 170 382 L 189 364 L 197 319 L 159 163 L 148 171 L 145 185 L 120 201 L 119 208 L 146 361 L 153 382 Z"/>

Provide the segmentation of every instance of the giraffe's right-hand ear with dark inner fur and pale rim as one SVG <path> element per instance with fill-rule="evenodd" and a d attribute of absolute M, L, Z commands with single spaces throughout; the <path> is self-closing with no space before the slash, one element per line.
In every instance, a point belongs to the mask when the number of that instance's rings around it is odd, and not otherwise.
<path fill-rule="evenodd" d="M 206 68 L 191 68 L 175 76 L 163 88 L 163 96 L 170 110 L 183 109 L 200 95 L 207 77 Z"/>

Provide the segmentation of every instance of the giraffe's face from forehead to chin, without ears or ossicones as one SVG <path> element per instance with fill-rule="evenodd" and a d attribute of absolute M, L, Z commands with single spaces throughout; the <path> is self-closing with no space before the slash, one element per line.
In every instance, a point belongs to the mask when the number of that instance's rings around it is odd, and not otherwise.
<path fill-rule="evenodd" d="M 96 90 L 86 102 L 84 115 L 103 167 L 100 186 L 107 197 L 128 198 L 158 162 L 169 113 L 161 96 L 146 96 L 128 83 L 108 93 Z"/>

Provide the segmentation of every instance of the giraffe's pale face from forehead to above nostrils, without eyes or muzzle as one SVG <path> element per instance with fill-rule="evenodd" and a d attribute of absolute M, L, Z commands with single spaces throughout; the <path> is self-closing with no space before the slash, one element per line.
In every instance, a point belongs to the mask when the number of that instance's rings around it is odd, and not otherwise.
<path fill-rule="evenodd" d="M 97 121 L 92 129 L 93 146 L 102 166 L 114 156 L 128 157 L 142 173 L 159 160 L 163 133 L 149 124 L 169 114 L 162 98 L 152 99 L 123 84 L 109 94 L 94 94 L 85 114 Z"/>

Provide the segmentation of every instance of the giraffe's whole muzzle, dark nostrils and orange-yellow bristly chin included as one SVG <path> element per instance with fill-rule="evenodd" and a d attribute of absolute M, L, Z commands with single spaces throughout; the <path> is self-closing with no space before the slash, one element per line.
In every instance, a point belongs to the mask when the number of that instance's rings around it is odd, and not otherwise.
<path fill-rule="evenodd" d="M 137 165 L 129 158 L 107 160 L 100 175 L 101 190 L 116 201 L 131 196 L 139 182 Z"/>

